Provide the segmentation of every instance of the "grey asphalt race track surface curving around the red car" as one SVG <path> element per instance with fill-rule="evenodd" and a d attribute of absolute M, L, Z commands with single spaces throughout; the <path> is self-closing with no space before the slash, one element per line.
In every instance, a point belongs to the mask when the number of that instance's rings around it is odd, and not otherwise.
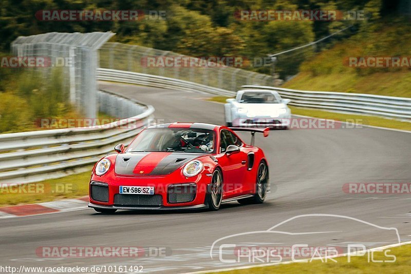
<path fill-rule="evenodd" d="M 100 86 L 153 105 L 159 122 L 224 123 L 223 106 L 204 101 L 207 94 L 125 84 Z M 249 134 L 240 135 L 249 142 Z M 395 230 L 382 227 L 397 228 L 402 242 L 411 240 L 409 194 L 349 194 L 342 189 L 346 183 L 411 182 L 410 133 L 368 127 L 274 130 L 268 138 L 257 136 L 255 143 L 264 149 L 270 165 L 271 192 L 262 205 L 231 202 L 217 212 L 120 211 L 112 216 L 84 209 L 3 219 L 0 261 L 17 267 L 141 265 L 144 272 L 242 266 L 250 263 L 221 262 L 218 253 L 211 259 L 213 242 L 235 233 L 267 230 L 302 214 L 341 217 L 296 218 L 275 230 L 297 234 L 261 232 L 233 241 L 342 248 L 350 243 L 367 247 L 398 243 Z M 35 253 L 41 246 L 166 247 L 169 256 L 41 258 Z"/>

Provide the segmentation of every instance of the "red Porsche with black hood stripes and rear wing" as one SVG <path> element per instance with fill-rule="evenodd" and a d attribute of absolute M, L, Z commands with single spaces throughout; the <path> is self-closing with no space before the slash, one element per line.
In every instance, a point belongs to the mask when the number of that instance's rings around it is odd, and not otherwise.
<path fill-rule="evenodd" d="M 251 145 L 233 131 L 250 131 Z M 218 210 L 221 203 L 263 203 L 269 187 L 263 150 L 254 133 L 269 128 L 228 128 L 167 123 L 141 131 L 127 149 L 104 156 L 93 168 L 89 207 Z"/>

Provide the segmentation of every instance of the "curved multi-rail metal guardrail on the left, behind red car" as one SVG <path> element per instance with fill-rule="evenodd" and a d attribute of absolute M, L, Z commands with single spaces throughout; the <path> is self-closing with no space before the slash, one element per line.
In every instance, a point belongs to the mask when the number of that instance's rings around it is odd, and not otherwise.
<path fill-rule="evenodd" d="M 89 170 L 118 143 L 128 144 L 145 128 L 152 106 L 99 91 L 100 108 L 124 118 L 113 123 L 0 134 L 0 182 L 24 184 Z"/>

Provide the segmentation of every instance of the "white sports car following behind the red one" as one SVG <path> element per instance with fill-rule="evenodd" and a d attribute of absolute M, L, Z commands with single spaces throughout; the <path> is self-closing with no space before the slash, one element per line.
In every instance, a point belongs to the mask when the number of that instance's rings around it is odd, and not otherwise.
<path fill-rule="evenodd" d="M 282 99 L 273 90 L 239 90 L 235 99 L 227 99 L 224 106 L 229 127 L 290 126 L 289 99 Z"/>

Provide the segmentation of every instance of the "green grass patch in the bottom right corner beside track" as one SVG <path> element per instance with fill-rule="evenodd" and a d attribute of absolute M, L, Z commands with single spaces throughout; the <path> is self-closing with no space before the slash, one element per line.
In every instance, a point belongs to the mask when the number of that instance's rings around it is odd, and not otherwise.
<path fill-rule="evenodd" d="M 308 263 L 290 263 L 267 267 L 255 267 L 243 270 L 220 272 L 224 274 L 265 274 L 265 273 L 409 273 L 411 266 L 411 245 L 404 245 L 389 248 L 388 255 L 395 255 L 394 263 L 373 263 L 368 262 L 367 255 L 362 257 L 351 257 L 351 262 L 347 262 L 347 257 L 335 258 L 333 261 L 321 262 L 313 260 Z M 375 260 L 391 260 L 384 256 L 384 252 L 375 252 Z"/>

